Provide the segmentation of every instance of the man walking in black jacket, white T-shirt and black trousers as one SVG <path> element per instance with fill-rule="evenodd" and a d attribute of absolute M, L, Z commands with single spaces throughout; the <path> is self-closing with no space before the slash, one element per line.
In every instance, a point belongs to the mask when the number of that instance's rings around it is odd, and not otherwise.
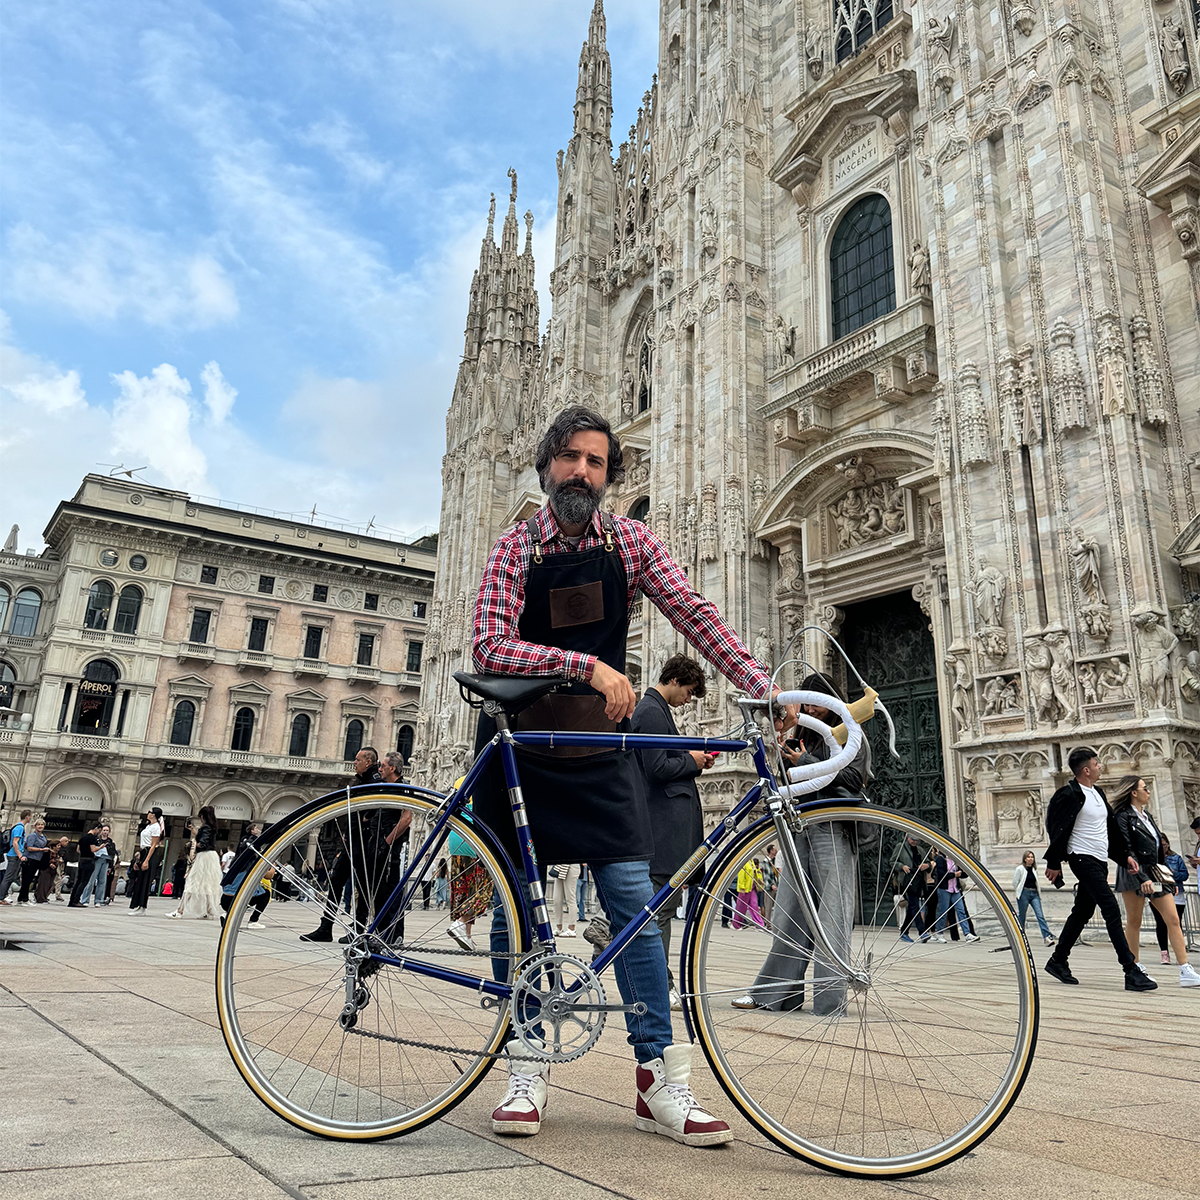
<path fill-rule="evenodd" d="M 1079 880 L 1079 888 L 1074 907 L 1062 928 L 1062 937 L 1046 962 L 1046 971 L 1062 983 L 1079 983 L 1070 973 L 1067 958 L 1084 925 L 1099 908 L 1109 941 L 1124 970 L 1126 991 L 1153 991 L 1158 984 L 1138 966 L 1129 950 L 1121 924 L 1121 908 L 1109 887 L 1110 858 L 1134 872 L 1138 862 L 1129 853 L 1129 844 L 1114 820 L 1108 798 L 1096 786 L 1100 778 L 1099 760 L 1091 746 L 1079 746 L 1067 756 L 1067 766 L 1075 778 L 1054 793 L 1046 810 L 1046 832 L 1050 834 L 1050 846 L 1045 852 L 1046 878 L 1056 887 L 1062 886 L 1057 881 L 1062 878 L 1062 860 L 1066 858 Z"/>

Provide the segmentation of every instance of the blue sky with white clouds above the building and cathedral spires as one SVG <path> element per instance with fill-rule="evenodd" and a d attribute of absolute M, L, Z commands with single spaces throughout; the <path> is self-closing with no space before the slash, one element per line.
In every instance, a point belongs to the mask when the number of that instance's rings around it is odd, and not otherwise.
<path fill-rule="evenodd" d="M 617 142 L 655 0 L 607 0 Z M 395 533 L 505 172 L 546 278 L 592 0 L 40 0 L 0 10 L 0 536 L 115 467 Z"/>

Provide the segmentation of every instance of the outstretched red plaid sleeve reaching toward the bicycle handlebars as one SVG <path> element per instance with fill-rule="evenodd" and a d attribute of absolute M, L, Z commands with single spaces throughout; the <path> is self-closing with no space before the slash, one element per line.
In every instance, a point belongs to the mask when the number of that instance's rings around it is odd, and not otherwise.
<path fill-rule="evenodd" d="M 640 521 L 618 518 L 622 538 L 641 551 L 638 587 L 654 606 L 727 679 L 750 696 L 764 696 L 770 676 L 721 618 L 716 605 L 692 588 L 662 541 Z"/>

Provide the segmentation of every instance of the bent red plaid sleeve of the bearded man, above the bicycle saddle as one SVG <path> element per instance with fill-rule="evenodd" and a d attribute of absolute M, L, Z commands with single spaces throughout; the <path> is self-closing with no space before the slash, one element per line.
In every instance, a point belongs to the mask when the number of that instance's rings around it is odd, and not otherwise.
<path fill-rule="evenodd" d="M 518 524 L 492 547 L 475 601 L 475 670 L 485 674 L 565 674 L 592 682 L 595 658 L 577 650 L 523 642 L 517 622 L 524 611 L 529 533 Z"/>

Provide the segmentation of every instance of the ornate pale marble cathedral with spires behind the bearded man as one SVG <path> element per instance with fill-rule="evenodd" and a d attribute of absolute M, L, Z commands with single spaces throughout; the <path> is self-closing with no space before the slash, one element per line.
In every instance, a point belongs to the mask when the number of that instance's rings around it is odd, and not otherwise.
<path fill-rule="evenodd" d="M 904 758 L 876 722 L 877 798 L 1007 864 L 1092 743 L 1177 835 L 1200 811 L 1198 13 L 664 0 L 614 151 L 596 0 L 545 336 L 515 174 L 472 284 L 426 778 L 469 745 L 450 676 L 487 551 L 541 503 L 538 437 L 582 402 L 626 446 L 612 506 L 761 658 L 820 626 L 880 690 Z M 680 648 L 638 602 L 635 680 Z M 714 682 L 695 727 L 730 701 Z M 743 784 L 737 760 L 706 775 L 710 820 Z"/>

